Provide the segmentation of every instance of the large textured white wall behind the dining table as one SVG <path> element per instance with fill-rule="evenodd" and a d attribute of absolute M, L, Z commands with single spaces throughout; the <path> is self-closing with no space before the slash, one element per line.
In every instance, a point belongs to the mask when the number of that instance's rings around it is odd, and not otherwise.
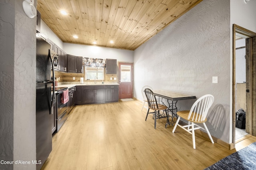
<path fill-rule="evenodd" d="M 134 97 L 141 88 L 195 95 L 212 94 L 211 135 L 229 143 L 230 1 L 204 0 L 134 52 Z M 212 83 L 218 76 L 218 84 Z M 190 109 L 194 100 L 178 102 Z"/>

